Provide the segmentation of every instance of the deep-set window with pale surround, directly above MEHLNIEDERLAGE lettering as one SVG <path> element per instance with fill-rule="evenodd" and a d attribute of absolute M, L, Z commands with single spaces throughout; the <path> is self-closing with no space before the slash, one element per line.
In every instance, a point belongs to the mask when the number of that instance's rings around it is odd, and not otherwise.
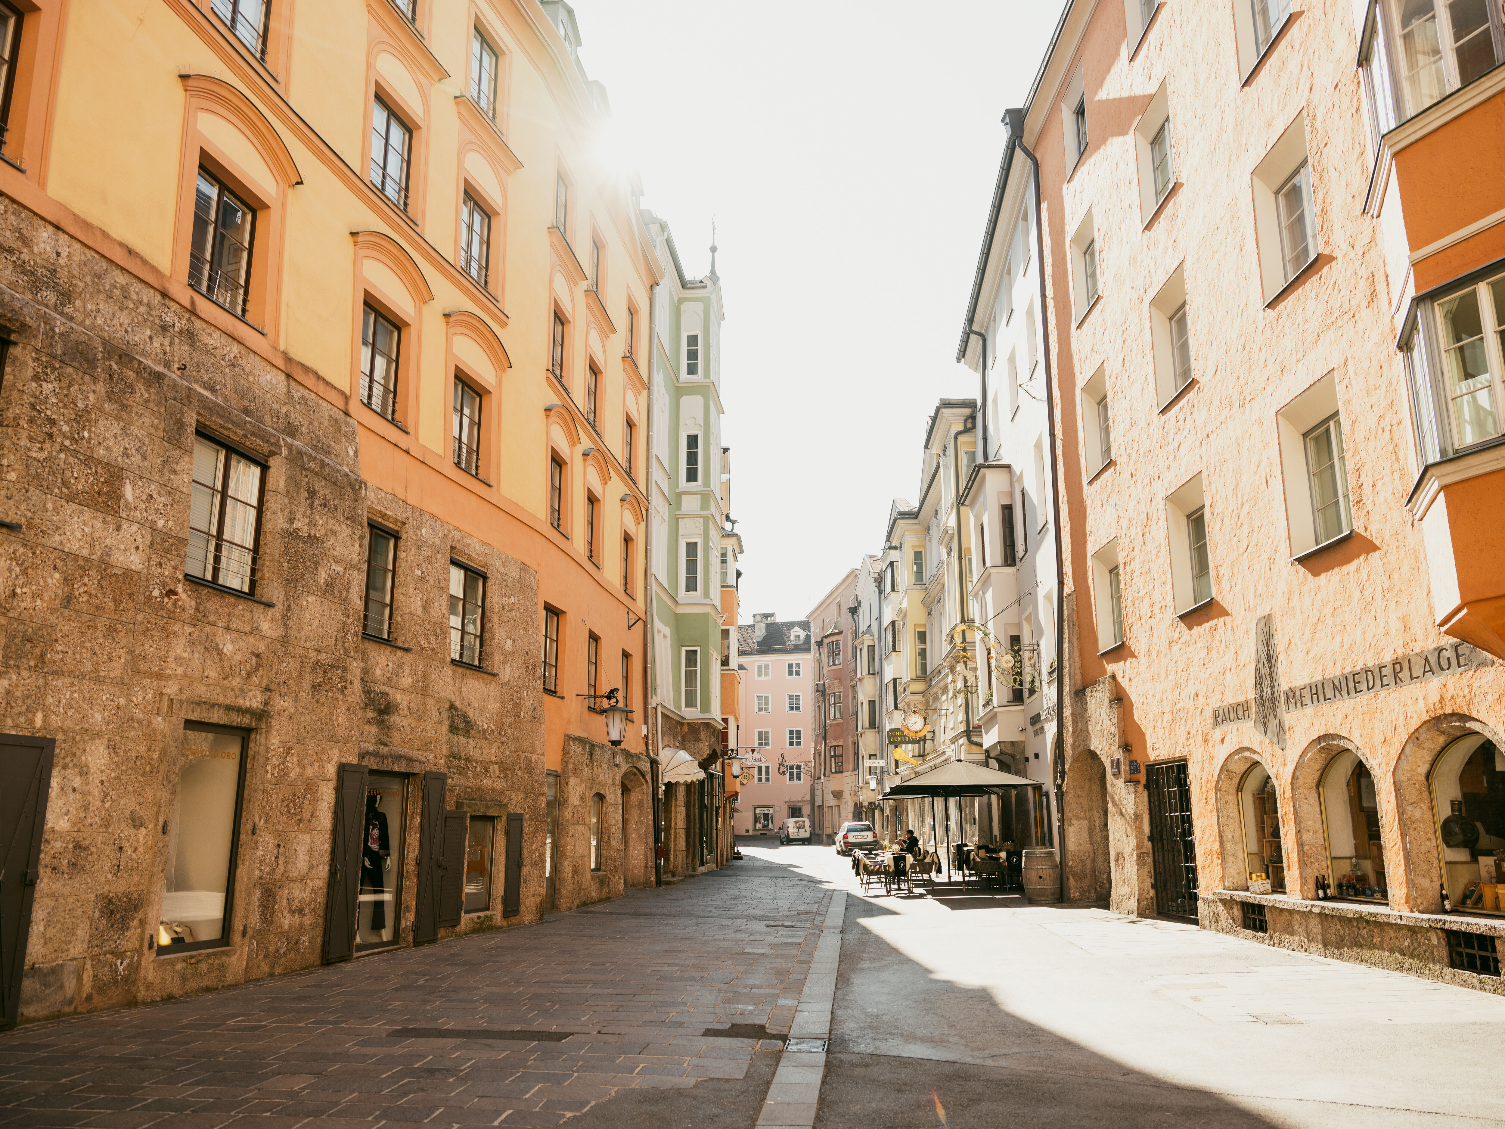
<path fill-rule="evenodd" d="M 1291 555 L 1300 557 L 1353 528 L 1333 373 L 1281 408 L 1275 421 Z"/>

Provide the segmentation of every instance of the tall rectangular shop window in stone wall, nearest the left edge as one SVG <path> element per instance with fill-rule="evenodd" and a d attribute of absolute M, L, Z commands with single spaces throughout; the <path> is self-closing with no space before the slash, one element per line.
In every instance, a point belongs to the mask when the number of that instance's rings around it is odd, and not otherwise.
<path fill-rule="evenodd" d="M 178 790 L 167 820 L 167 872 L 157 953 L 229 944 L 235 846 L 245 780 L 245 732 L 185 726 Z"/>

